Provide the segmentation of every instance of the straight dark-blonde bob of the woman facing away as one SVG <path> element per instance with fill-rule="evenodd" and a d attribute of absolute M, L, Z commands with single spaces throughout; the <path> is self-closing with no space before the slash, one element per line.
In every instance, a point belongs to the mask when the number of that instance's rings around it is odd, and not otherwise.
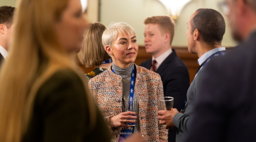
<path fill-rule="evenodd" d="M 111 58 L 101 41 L 105 29 L 106 26 L 101 23 L 91 23 L 85 30 L 82 48 L 78 53 L 78 59 L 85 67 L 98 66 Z"/>

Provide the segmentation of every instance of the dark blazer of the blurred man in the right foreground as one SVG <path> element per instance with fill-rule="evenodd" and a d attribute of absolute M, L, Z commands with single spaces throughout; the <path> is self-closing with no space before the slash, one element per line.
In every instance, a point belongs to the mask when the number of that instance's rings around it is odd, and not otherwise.
<path fill-rule="evenodd" d="M 198 74 L 187 142 L 255 142 L 256 32 Z"/>

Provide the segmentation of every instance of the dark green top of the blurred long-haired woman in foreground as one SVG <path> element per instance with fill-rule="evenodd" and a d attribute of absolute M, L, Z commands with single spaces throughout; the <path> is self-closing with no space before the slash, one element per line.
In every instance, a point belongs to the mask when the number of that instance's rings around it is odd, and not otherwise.
<path fill-rule="evenodd" d="M 89 130 L 84 85 L 71 69 L 50 77 L 39 89 L 28 131 L 22 142 L 110 142 L 111 135 L 100 110 Z"/>

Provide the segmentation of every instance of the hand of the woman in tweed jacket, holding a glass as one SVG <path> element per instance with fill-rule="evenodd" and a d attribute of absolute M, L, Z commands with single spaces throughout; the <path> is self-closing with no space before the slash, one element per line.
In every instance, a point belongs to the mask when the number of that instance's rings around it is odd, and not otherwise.
<path fill-rule="evenodd" d="M 128 120 L 128 119 L 137 119 L 135 112 L 122 112 L 112 118 L 110 118 L 109 125 L 111 128 L 119 128 L 119 127 L 132 127 L 132 125 L 127 125 L 126 123 L 136 123 L 136 120 Z M 125 122 L 126 120 L 126 122 Z"/>

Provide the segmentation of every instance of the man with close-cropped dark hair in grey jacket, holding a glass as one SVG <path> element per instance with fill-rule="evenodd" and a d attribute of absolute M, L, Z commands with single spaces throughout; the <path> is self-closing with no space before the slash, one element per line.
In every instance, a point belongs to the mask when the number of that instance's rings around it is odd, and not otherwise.
<path fill-rule="evenodd" d="M 207 26 L 206 26 L 207 25 Z M 225 21 L 223 16 L 213 9 L 198 9 L 187 22 L 188 51 L 198 55 L 197 74 L 187 91 L 187 102 L 184 103 L 184 110 L 179 112 L 176 108 L 173 111 L 161 110 L 158 112 L 159 124 L 166 124 L 166 127 L 177 127 L 176 142 L 184 142 L 188 135 L 188 126 L 191 123 L 194 104 L 197 100 L 197 88 L 199 74 L 202 69 L 214 58 L 225 55 L 225 47 L 222 47 L 222 39 L 225 33 Z M 201 76 L 202 77 L 202 76 Z M 202 77 L 203 78 L 203 77 Z"/>

